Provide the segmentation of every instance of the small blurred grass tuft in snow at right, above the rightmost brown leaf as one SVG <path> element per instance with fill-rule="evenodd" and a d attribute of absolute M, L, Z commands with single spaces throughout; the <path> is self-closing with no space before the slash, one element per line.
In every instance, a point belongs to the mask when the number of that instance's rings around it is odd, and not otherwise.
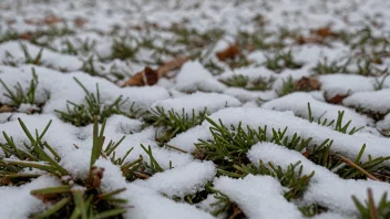
<path fill-rule="evenodd" d="M 333 73 L 349 73 L 348 65 L 350 64 L 351 59 L 345 63 L 338 61 L 328 62 L 328 59 L 325 58 L 324 61 L 319 61 L 315 67 L 311 69 L 317 74 L 333 74 Z"/>

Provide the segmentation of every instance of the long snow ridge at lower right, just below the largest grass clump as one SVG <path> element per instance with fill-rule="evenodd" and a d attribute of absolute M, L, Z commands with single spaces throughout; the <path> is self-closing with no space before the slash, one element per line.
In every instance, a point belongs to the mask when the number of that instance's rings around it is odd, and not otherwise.
<path fill-rule="evenodd" d="M 254 164 L 258 164 L 258 160 L 261 159 L 264 163 L 271 161 L 283 168 L 300 161 L 300 165 L 304 166 L 302 175 L 310 175 L 311 171 L 315 171 L 310 186 L 305 192 L 304 200 L 308 204 L 319 204 L 346 215 L 356 212 L 356 207 L 351 199 L 352 195 L 359 200 L 365 200 L 367 189 L 371 188 L 374 200 L 379 204 L 382 194 L 390 189 L 390 185 L 382 181 L 341 179 L 325 167 L 315 165 L 300 153 L 271 143 L 258 143 L 253 146 L 248 152 L 248 158 Z"/>

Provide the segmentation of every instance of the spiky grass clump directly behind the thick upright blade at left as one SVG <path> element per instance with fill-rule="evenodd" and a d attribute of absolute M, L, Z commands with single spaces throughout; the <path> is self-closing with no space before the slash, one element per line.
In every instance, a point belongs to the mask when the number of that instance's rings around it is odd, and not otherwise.
<path fill-rule="evenodd" d="M 84 104 L 75 104 L 68 101 L 66 112 L 58 111 L 55 112 L 60 115 L 60 118 L 64 122 L 71 123 L 75 126 L 85 126 L 94 121 L 94 115 L 98 116 L 98 121 L 102 123 L 105 118 L 113 114 L 127 115 L 121 109 L 121 105 L 125 103 L 122 96 L 119 96 L 112 104 L 104 105 L 100 98 L 99 85 L 96 84 L 96 94 L 90 93 L 85 86 L 74 77 L 74 81 L 83 88 L 85 92 Z"/>

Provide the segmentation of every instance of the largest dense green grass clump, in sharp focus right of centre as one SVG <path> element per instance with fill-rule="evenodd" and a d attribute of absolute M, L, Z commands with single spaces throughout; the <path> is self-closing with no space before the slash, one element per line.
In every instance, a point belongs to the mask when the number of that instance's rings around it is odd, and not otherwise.
<path fill-rule="evenodd" d="M 302 152 L 310 145 L 311 138 L 304 139 L 297 134 L 291 137 L 286 135 L 287 127 L 284 131 L 271 129 L 271 137 L 267 134 L 267 126 L 252 128 L 249 126 L 226 127 L 219 119 L 219 124 L 206 117 L 206 121 L 212 125 L 209 128 L 213 138 L 209 140 L 199 139 L 195 144 L 196 152 L 194 156 L 201 159 L 208 159 L 216 163 L 220 169 L 232 169 L 232 165 L 247 164 L 247 152 L 258 142 L 270 142 L 277 145 L 285 146 L 289 149 Z M 327 139 L 320 146 L 328 144 Z"/>

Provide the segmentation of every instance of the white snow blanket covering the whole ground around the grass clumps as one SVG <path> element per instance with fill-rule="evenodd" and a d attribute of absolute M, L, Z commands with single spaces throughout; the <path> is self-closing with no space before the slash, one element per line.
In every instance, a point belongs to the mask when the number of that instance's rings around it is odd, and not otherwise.
<path fill-rule="evenodd" d="M 373 74 L 374 69 L 370 69 L 369 75 L 351 72 L 317 74 L 314 71 L 325 60 L 327 63 L 335 61 L 342 64 L 348 59 L 351 59 L 348 70 L 358 71 L 359 59 L 366 58 L 376 61 L 370 67 L 386 70 L 390 64 L 386 44 L 381 42 L 374 45 L 376 40 L 372 39 L 361 43 L 357 38 L 352 38 L 348 44 L 347 35 L 338 34 L 339 31 L 352 34 L 360 31 L 360 36 L 365 36 L 368 29 L 366 32 L 361 30 L 369 27 L 371 36 L 388 39 L 389 8 L 390 2 L 381 0 L 19 0 L 17 3 L 14 0 L 2 0 L 0 79 L 14 93 L 16 86 L 20 84 L 25 94 L 34 69 L 39 83 L 33 103 L 22 104 L 13 104 L 4 95 L 6 87 L 0 84 L 0 133 L 12 136 L 16 145 L 25 149 L 24 144 L 29 145 L 30 140 L 18 118 L 25 123 L 32 134 L 35 129 L 42 132 L 52 121 L 42 140 L 59 153 L 60 165 L 70 175 L 61 177 L 61 181 L 43 170 L 23 168 L 21 173 L 42 176 L 18 186 L 3 184 L 4 178 L 0 177 L 0 218 L 29 218 L 31 213 L 42 212 L 50 207 L 31 196 L 32 189 L 86 178 L 93 125 L 76 127 L 61 121 L 57 113 L 66 111 L 66 101 L 86 104 L 85 93 L 74 77 L 92 94 L 96 94 L 99 84 L 102 107 L 122 96 L 125 101 L 121 105 L 123 112 L 129 112 L 131 106 L 140 111 L 140 115 L 132 118 L 126 115 L 107 117 L 103 148 L 110 140 L 119 142 L 125 137 L 115 149 L 115 158 L 124 157 L 132 150 L 124 163 L 143 157 L 143 161 L 151 165 L 142 146 L 150 147 L 164 170 L 147 179 L 129 181 L 122 175 L 121 167 L 110 159 L 101 157 L 96 160 L 95 166 L 104 168 L 101 181 L 103 192 L 126 188 L 115 196 L 129 201 L 126 206 L 130 208 L 123 215 L 126 219 L 214 218 L 212 212 L 220 204 L 213 205 L 218 199 L 205 190 L 206 185 L 226 194 L 248 218 L 304 218 L 298 207 L 310 204 L 328 208 L 327 212 L 312 217 L 315 219 L 358 218 L 359 212 L 351 196 L 363 201 L 367 199 L 367 189 L 372 188 L 378 201 L 384 191 L 389 191 L 388 182 L 341 179 L 333 171 L 307 159 L 301 155 L 302 152 L 267 142 L 255 144 L 247 153 L 254 164 L 261 159 L 265 164 L 271 161 L 286 168 L 291 163 L 301 161 L 304 174 L 316 173 L 302 198 L 287 201 L 284 198 L 286 188 L 276 179 L 253 175 L 239 179 L 228 178 L 217 171 L 222 164 L 199 160 L 192 154 L 196 150 L 194 144 L 199 139 L 212 139 L 207 121 L 162 145 L 157 136 L 164 127 L 151 125 L 144 115 L 157 106 L 178 114 L 184 109 L 189 116 L 193 111 L 197 115 L 206 108 L 211 119 L 217 122 L 220 118 L 227 127 L 239 123 L 252 128 L 267 126 L 268 137 L 273 128 L 283 131 L 288 127 L 286 136 L 289 138 L 295 133 L 305 139 L 311 137 L 309 148 L 331 139 L 331 153 L 351 160 L 359 156 L 363 144 L 367 147 L 362 161 L 369 160 L 370 156 L 390 156 L 388 73 Z M 49 15 L 61 21 L 51 23 L 47 20 Z M 81 18 L 85 23 L 78 24 L 75 19 Z M 319 36 L 324 42 L 298 42 L 300 38 L 316 39 L 318 35 L 315 32 L 320 29 L 327 32 L 327 27 L 332 35 L 324 39 Z M 216 34 L 216 30 L 223 34 Z M 7 34 L 9 31 L 14 34 Z M 123 49 L 116 51 L 123 53 L 121 59 L 113 54 L 116 40 L 123 40 L 131 46 L 119 48 Z M 74 51 L 68 42 L 72 43 Z M 279 43 L 285 45 L 280 51 L 277 48 Z M 352 48 L 351 43 L 358 43 L 357 48 Z M 43 49 L 39 63 L 31 64 L 31 60 L 29 62 L 25 59 L 22 44 L 32 59 Z M 218 60 L 216 53 L 233 44 L 238 46 L 240 55 L 227 61 Z M 138 45 L 137 50 L 132 51 Z M 294 60 L 302 64 L 300 69 L 286 67 L 276 72 L 266 67 L 267 58 L 287 51 L 291 51 Z M 177 56 L 186 56 L 191 61 L 158 79 L 155 85 L 121 87 L 145 66 L 157 70 L 162 63 Z M 376 60 L 377 56 L 380 59 Z M 84 65 L 90 59 L 90 67 L 94 71 L 88 71 Z M 249 85 L 228 86 L 226 80 L 235 75 L 246 76 Z M 291 79 L 296 83 L 304 76 L 318 80 L 319 90 L 306 93 L 296 91 L 279 96 L 284 82 Z M 268 82 L 267 90 L 250 90 L 250 83 L 259 79 Z M 337 105 L 327 103 L 337 95 L 346 97 Z M 315 119 L 321 116 L 322 121 L 336 119 L 338 112 L 343 111 L 343 124 L 351 121 L 348 131 L 352 127 L 362 129 L 348 135 L 333 131 L 333 126 L 310 123 L 307 103 L 310 103 Z M 0 134 L 0 144 L 4 143 L 4 136 Z M 7 161 L 17 157 L 7 156 L 0 149 L 0 159 Z M 383 165 L 389 164 L 387 161 Z M 78 185 L 73 189 L 85 187 Z M 187 195 L 195 195 L 196 201 L 191 204 Z M 201 197 L 205 199 L 198 200 Z M 216 218 L 228 217 L 228 212 L 222 212 Z"/>

